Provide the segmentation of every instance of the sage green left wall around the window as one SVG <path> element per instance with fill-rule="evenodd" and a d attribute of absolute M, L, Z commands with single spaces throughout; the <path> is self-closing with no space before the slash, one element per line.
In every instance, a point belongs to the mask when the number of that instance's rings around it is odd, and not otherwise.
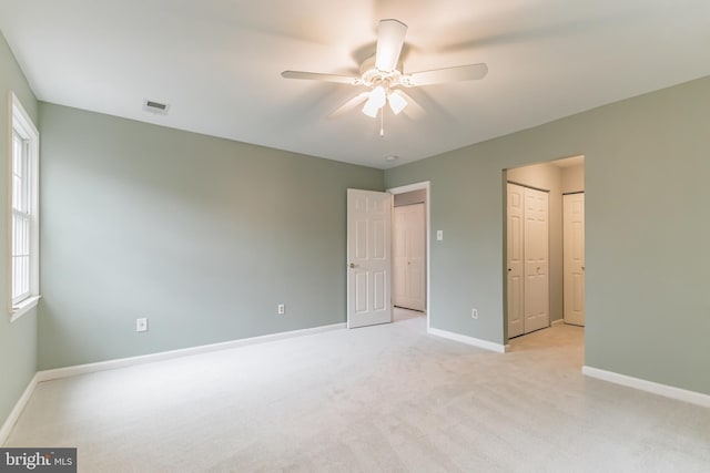
<path fill-rule="evenodd" d="M 10 156 L 11 107 L 10 91 L 13 91 L 37 124 L 37 99 L 30 90 L 4 37 L 0 34 L 0 208 L 8 202 L 8 166 Z M 10 322 L 7 308 L 9 299 L 8 220 L 0 218 L 0 426 L 17 403 L 37 370 L 37 313 L 32 310 L 14 322 Z"/>

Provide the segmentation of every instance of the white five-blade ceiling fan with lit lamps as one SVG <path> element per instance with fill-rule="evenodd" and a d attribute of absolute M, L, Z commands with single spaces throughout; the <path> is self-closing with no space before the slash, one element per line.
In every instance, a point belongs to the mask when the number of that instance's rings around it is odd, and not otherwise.
<path fill-rule="evenodd" d="M 303 71 L 283 71 L 281 75 L 285 79 L 305 79 L 365 86 L 367 89 L 365 92 L 347 101 L 331 116 L 339 115 L 365 102 L 362 109 L 363 113 L 375 119 L 377 114 L 383 116 L 381 111 L 384 112 L 385 104 L 388 104 L 392 112 L 397 115 L 409 103 L 414 103 L 414 100 L 402 90 L 403 88 L 478 80 L 488 73 L 488 66 L 478 63 L 405 74 L 399 55 L 406 32 L 407 25 L 402 21 L 381 20 L 377 30 L 377 49 L 374 55 L 361 64 L 359 76 Z"/>

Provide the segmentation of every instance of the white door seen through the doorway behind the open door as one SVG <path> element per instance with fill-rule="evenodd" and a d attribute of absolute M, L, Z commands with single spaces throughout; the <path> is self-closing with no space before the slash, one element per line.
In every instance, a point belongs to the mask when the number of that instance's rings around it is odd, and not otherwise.
<path fill-rule="evenodd" d="M 393 233 L 394 304 L 423 311 L 426 307 L 424 204 L 395 207 Z"/>

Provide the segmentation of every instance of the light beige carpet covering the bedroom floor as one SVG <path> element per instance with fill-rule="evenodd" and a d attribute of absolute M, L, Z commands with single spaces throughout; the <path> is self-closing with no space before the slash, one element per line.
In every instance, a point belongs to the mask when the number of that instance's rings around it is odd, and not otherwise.
<path fill-rule="evenodd" d="M 580 374 L 584 329 L 499 354 L 426 317 L 40 383 L 7 446 L 82 472 L 708 472 L 710 410 Z"/>

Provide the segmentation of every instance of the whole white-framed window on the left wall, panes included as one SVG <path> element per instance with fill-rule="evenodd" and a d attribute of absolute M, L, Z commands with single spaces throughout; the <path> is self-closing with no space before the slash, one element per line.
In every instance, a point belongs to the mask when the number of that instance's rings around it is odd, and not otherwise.
<path fill-rule="evenodd" d="M 12 94 L 10 294 L 12 320 L 39 299 L 39 132 Z"/>

